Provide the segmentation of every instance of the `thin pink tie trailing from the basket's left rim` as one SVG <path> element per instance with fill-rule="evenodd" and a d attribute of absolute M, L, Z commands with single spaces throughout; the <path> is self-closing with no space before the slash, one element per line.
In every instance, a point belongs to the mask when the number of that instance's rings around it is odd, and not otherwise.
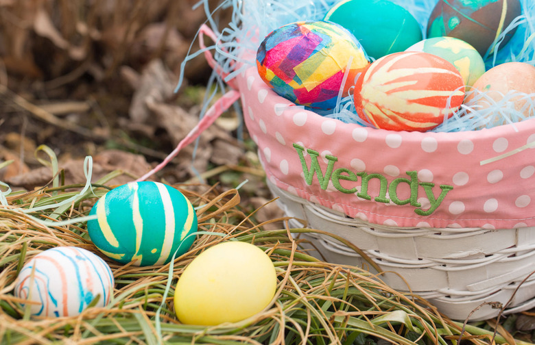
<path fill-rule="evenodd" d="M 206 62 L 208 62 L 209 66 L 213 68 L 213 71 L 217 73 L 222 79 L 225 79 L 228 76 L 228 73 L 224 71 L 224 68 L 220 66 L 215 59 L 213 58 L 213 55 L 210 53 L 208 49 L 206 49 L 206 45 L 204 44 L 204 35 L 209 36 L 212 38 L 214 42 L 218 42 L 217 37 L 215 36 L 214 32 L 205 24 L 203 24 L 199 29 L 199 45 L 201 49 L 204 49 L 204 58 L 206 58 Z M 182 150 L 185 146 L 188 144 L 191 144 L 191 142 L 195 141 L 195 139 L 200 136 L 200 134 L 208 127 L 210 127 L 214 121 L 221 116 L 228 108 L 230 108 L 233 103 L 235 103 L 239 97 L 240 94 L 237 91 L 237 87 L 235 85 L 234 79 L 226 81 L 226 84 L 230 86 L 231 90 L 226 92 L 223 97 L 218 99 L 210 108 L 206 111 L 206 114 L 199 120 L 199 123 L 189 131 L 187 136 L 185 136 L 184 139 L 180 140 L 176 148 L 165 157 L 163 162 L 158 164 L 155 168 L 147 172 L 145 175 L 140 177 L 139 179 L 136 179 L 136 181 L 145 181 L 145 179 L 151 177 L 156 172 L 160 171 L 163 167 L 165 167 L 169 162 L 171 162 L 171 159 L 176 157 L 178 153 L 180 153 L 180 150 Z"/>

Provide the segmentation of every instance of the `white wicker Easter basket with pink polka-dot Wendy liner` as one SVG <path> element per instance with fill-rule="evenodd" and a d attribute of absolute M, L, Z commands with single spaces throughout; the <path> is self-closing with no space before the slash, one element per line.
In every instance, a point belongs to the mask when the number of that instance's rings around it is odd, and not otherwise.
<path fill-rule="evenodd" d="M 239 25 L 220 34 L 200 30 L 215 42 L 201 47 L 218 85 L 230 86 L 215 113 L 241 99 L 268 186 L 294 218 L 289 225 L 348 240 L 379 265 L 392 288 L 427 298 L 453 319 L 535 307 L 535 118 L 478 130 L 391 131 L 320 116 L 280 97 L 259 76 L 259 43 L 282 24 L 321 18 L 335 1 L 314 2 L 287 8 L 276 0 L 228 1 Z M 423 22 L 436 0 L 394 2 L 411 3 Z M 516 18 L 530 61 L 535 8 L 521 3 L 534 12 Z M 511 56 L 502 49 L 486 62 Z M 217 117 L 211 110 L 206 117 Z M 333 238 L 302 237 L 326 261 L 366 266 Z"/>

